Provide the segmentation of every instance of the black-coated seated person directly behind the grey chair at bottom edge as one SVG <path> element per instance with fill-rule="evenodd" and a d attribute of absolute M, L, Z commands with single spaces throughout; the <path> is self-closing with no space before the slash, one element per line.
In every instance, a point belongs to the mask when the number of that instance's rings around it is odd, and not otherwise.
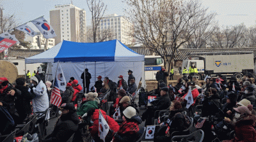
<path fill-rule="evenodd" d="M 170 114 L 165 119 L 164 123 L 160 124 L 159 130 L 155 133 L 154 141 L 169 142 L 172 139 L 172 132 L 184 131 L 190 125 L 188 116 L 182 113 L 182 105 L 177 100 L 172 101 Z"/>

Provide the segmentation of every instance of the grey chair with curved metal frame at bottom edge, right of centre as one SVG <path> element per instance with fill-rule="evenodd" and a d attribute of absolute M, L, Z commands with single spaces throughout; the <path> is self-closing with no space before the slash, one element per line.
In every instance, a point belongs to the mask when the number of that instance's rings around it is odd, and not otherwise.
<path fill-rule="evenodd" d="M 199 129 L 198 131 L 195 131 L 189 135 L 173 136 L 172 141 L 177 141 L 177 139 L 180 139 L 180 142 L 185 142 L 185 141 L 202 142 L 204 140 L 204 131 Z"/>

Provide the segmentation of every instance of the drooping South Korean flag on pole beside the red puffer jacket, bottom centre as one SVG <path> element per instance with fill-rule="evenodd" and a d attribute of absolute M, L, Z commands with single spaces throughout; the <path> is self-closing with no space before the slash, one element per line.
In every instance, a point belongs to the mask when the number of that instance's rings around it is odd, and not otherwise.
<path fill-rule="evenodd" d="M 101 111 L 99 111 L 99 137 L 105 142 L 105 138 L 109 131 L 109 125 L 103 117 Z"/>

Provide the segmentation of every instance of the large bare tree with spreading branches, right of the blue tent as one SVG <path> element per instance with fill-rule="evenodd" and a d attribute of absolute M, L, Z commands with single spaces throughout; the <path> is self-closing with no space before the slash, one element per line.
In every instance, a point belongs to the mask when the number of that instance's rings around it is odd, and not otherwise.
<path fill-rule="evenodd" d="M 187 43 L 212 14 L 199 1 L 125 0 L 134 23 L 134 38 L 164 59 L 170 72 L 177 49 Z M 171 55 L 168 55 L 171 50 Z M 170 57 L 168 57 L 170 56 Z M 168 63 L 168 67 L 166 66 Z"/>

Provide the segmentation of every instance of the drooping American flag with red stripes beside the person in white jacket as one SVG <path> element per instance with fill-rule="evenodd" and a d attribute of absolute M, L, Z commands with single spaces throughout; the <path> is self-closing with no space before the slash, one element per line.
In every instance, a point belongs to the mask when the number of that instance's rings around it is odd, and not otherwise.
<path fill-rule="evenodd" d="M 52 95 L 51 95 L 51 104 L 54 106 L 60 106 L 61 104 L 61 96 L 60 96 L 60 89 L 58 85 L 58 80 L 55 78 L 54 87 L 52 88 Z"/>

